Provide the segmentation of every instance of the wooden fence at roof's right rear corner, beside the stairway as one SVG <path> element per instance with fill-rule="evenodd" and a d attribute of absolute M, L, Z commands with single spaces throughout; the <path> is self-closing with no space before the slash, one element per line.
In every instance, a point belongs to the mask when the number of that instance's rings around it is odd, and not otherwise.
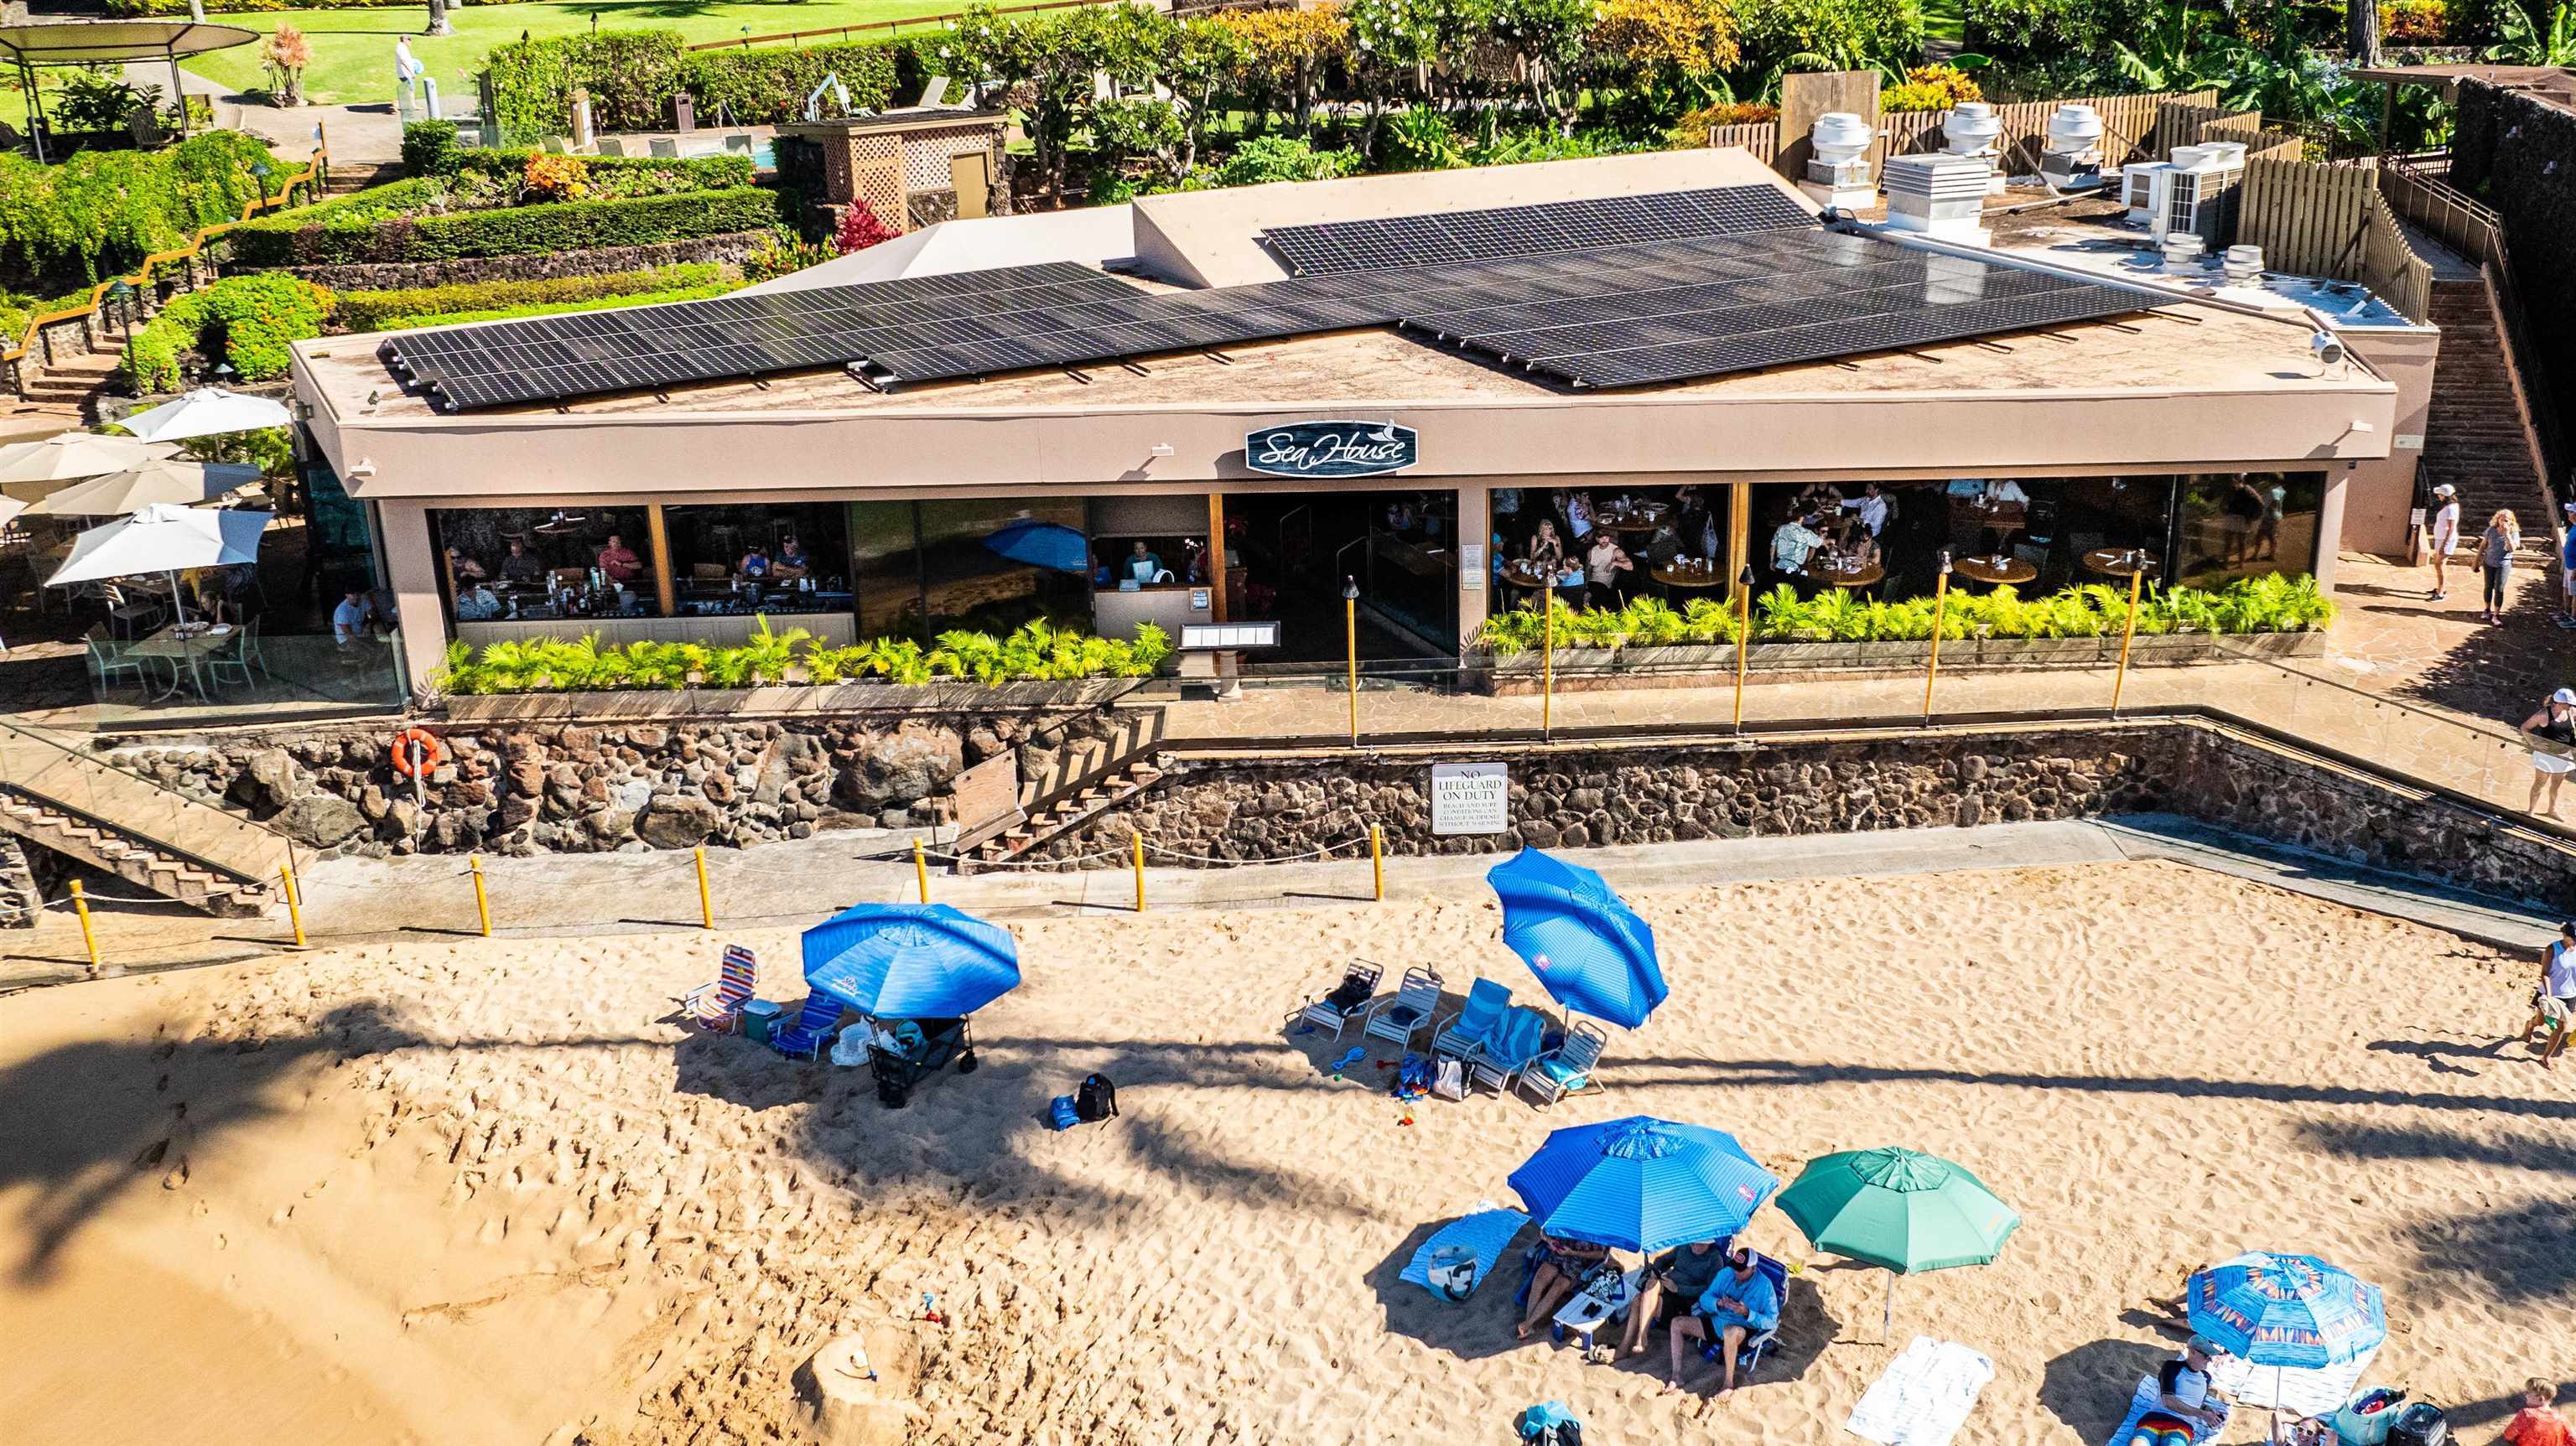
<path fill-rule="evenodd" d="M 2249 157 L 2236 239 L 2269 270 L 2360 280 L 2409 322 L 2432 316 L 2432 262 L 2406 242 L 2378 167 Z"/>

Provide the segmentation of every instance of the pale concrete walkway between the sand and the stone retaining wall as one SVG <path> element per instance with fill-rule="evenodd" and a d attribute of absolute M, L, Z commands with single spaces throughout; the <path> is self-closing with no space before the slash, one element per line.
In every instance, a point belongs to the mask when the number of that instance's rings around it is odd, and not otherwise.
<path fill-rule="evenodd" d="M 1703 839 L 1579 849 L 1574 857 L 1623 890 L 1672 888 L 1674 880 L 1896 877 L 2177 859 L 2501 947 L 2537 949 L 2555 929 L 2512 903 L 2357 870 L 2169 816 Z M 1386 895 L 1476 898 L 1494 862 L 1494 854 L 1391 857 Z M 850 836 L 822 834 L 793 844 L 719 849 L 706 865 L 719 931 L 809 926 L 858 901 L 917 898 L 909 857 L 863 854 L 853 849 Z M 327 859 L 301 883 L 307 937 L 319 947 L 479 942 L 474 883 L 453 857 Z M 1303 865 L 1151 867 L 1144 883 L 1151 911 L 1363 908 L 1370 906 L 1373 888 L 1370 862 L 1360 852 Z M 497 937 L 672 934 L 675 949 L 698 949 L 703 939 L 690 854 L 484 859 L 484 888 Z M 933 875 L 930 895 L 1002 921 L 1128 913 L 1136 908 L 1136 875 L 1126 870 Z M 93 906 L 93 924 L 100 955 L 116 970 L 255 960 L 289 944 L 283 916 L 204 919 L 142 895 L 100 898 Z M 67 908 L 49 908 L 36 929 L 0 934 L 0 991 L 85 978 L 82 960 L 80 924 Z"/>

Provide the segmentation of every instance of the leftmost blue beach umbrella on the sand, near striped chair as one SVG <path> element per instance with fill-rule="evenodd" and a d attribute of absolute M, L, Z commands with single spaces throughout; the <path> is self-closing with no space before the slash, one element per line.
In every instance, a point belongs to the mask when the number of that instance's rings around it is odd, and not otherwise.
<path fill-rule="evenodd" d="M 963 1019 L 1020 983 L 999 924 L 945 903 L 860 903 L 804 931 L 806 983 L 878 1019 Z"/>

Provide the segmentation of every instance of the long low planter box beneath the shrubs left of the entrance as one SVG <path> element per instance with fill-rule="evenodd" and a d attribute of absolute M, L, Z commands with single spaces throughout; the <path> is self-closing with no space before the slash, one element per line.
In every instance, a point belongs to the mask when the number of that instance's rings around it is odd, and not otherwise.
<path fill-rule="evenodd" d="M 824 687 L 683 687 L 618 692 L 495 692 L 448 697 L 453 723 L 544 723 L 592 718 L 781 718 L 822 713 L 1012 713 L 1025 708 L 1103 708 L 1139 682 L 1103 677 L 1082 682 L 835 682 Z"/>

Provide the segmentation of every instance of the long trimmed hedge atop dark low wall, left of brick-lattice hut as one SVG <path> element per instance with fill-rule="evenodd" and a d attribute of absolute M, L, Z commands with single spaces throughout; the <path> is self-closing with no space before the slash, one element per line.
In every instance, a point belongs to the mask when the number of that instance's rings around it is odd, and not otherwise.
<path fill-rule="evenodd" d="M 397 180 L 394 185 L 435 185 Z M 379 188 L 392 190 L 392 185 Z M 778 196 L 757 188 L 551 201 L 451 216 L 325 219 L 296 211 L 234 229 L 232 265 L 353 265 L 652 247 L 778 226 Z"/>

